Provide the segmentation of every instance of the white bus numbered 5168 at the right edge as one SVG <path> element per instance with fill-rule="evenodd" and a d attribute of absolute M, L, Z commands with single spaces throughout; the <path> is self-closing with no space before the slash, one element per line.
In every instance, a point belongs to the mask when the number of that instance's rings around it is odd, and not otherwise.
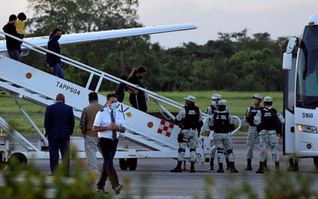
<path fill-rule="evenodd" d="M 284 154 L 313 158 L 318 170 L 318 15 L 307 20 L 301 38 L 289 40 L 283 69 Z"/>

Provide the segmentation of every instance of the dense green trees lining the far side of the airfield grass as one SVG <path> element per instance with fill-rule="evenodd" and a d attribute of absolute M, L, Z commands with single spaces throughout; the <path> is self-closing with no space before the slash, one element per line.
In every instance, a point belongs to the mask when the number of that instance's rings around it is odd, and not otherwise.
<path fill-rule="evenodd" d="M 138 0 L 28 0 L 33 18 L 27 20 L 27 36 L 48 35 L 55 27 L 64 34 L 142 27 Z M 282 91 L 282 54 L 288 37 L 270 34 L 249 36 L 247 29 L 218 33 L 204 45 L 194 42 L 165 49 L 149 36 L 113 39 L 63 46 L 61 53 L 119 77 L 144 66 L 143 80 L 153 91 Z M 48 70 L 43 56 L 31 52 L 22 62 Z M 64 66 L 67 80 L 84 86 L 87 72 Z M 98 78 L 94 78 L 96 84 Z M 103 82 L 101 90 L 117 85 Z"/>

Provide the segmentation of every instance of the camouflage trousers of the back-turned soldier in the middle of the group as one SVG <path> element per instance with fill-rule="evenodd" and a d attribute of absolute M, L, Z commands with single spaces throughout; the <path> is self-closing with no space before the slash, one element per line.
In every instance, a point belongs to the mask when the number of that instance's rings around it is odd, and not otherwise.
<path fill-rule="evenodd" d="M 215 133 L 214 142 L 218 151 L 218 163 L 223 163 L 224 152 L 227 154 L 230 162 L 235 162 L 231 133 Z"/>

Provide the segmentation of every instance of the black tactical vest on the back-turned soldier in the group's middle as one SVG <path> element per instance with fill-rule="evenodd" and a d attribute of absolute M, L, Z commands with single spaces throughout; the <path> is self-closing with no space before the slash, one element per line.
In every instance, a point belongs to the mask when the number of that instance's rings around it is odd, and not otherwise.
<path fill-rule="evenodd" d="M 214 119 L 214 132 L 215 133 L 228 133 L 230 132 L 229 112 L 215 112 Z"/>

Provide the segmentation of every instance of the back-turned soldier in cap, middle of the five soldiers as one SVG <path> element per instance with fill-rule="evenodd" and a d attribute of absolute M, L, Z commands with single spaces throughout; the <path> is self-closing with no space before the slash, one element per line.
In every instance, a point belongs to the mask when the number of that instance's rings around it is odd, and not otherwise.
<path fill-rule="evenodd" d="M 211 118 L 211 124 L 214 127 L 214 142 L 218 151 L 219 170 L 217 172 L 224 173 L 223 153 L 225 151 L 230 162 L 230 172 L 238 173 L 238 170 L 235 168 L 235 157 L 231 138 L 231 131 L 235 129 L 235 125 L 231 113 L 226 110 L 226 105 L 226 100 L 220 100 L 218 110 L 213 113 Z"/>

